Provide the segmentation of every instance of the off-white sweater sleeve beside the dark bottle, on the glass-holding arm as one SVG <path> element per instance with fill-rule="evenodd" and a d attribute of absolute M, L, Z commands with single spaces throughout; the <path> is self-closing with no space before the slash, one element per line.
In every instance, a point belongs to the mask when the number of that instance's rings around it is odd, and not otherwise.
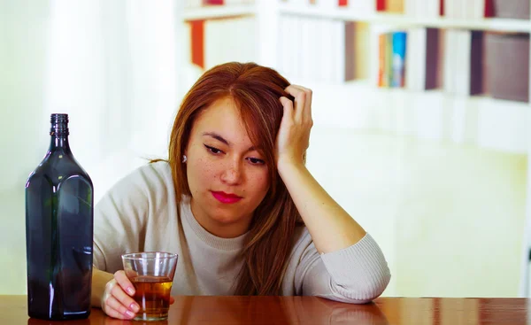
<path fill-rule="evenodd" d="M 138 169 L 112 186 L 94 209 L 94 267 L 114 273 L 121 254 L 142 251 L 141 236 L 149 205 L 145 174 Z"/>

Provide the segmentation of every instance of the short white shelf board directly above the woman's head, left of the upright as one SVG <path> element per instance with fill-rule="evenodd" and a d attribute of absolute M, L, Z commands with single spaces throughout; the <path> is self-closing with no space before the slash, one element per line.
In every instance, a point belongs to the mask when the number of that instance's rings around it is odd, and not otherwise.
<path fill-rule="evenodd" d="M 198 8 L 187 8 L 182 13 L 182 19 L 203 20 L 203 19 L 222 19 L 237 16 L 249 16 L 256 14 L 255 4 L 238 4 L 238 5 L 210 5 Z"/>

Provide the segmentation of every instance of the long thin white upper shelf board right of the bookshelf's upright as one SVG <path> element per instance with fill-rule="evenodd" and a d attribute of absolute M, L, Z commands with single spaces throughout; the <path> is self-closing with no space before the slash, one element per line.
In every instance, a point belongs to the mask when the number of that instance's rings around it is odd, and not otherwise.
<path fill-rule="evenodd" d="M 389 24 L 400 27 L 435 27 L 435 28 L 462 28 L 473 30 L 530 33 L 531 20 L 527 19 L 431 19 L 412 18 L 401 14 L 373 13 L 359 14 L 348 8 L 319 8 L 312 6 L 298 7 L 289 4 L 279 5 L 279 11 L 283 14 L 320 17 L 328 19 L 340 19 L 348 21 L 366 21 L 370 23 Z"/>

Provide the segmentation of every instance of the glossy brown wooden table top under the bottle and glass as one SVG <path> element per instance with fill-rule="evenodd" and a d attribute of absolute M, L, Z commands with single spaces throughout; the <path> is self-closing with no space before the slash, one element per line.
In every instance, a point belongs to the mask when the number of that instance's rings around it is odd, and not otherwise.
<path fill-rule="evenodd" d="M 527 324 L 526 298 L 378 298 L 349 305 L 314 297 L 176 297 L 167 321 L 145 324 Z M 530 309 L 531 310 L 531 309 Z M 26 296 L 0 296 L 2 325 L 124 325 L 93 309 L 81 321 L 27 317 Z"/>

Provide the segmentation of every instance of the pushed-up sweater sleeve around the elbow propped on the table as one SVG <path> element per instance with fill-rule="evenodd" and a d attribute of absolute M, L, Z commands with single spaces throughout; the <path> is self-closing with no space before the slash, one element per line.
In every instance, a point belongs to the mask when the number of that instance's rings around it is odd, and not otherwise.
<path fill-rule="evenodd" d="M 379 297 L 389 284 L 387 261 L 369 234 L 350 247 L 322 255 L 308 238 L 310 234 L 304 237 L 304 252 L 296 268 L 302 295 L 364 304 Z"/>

